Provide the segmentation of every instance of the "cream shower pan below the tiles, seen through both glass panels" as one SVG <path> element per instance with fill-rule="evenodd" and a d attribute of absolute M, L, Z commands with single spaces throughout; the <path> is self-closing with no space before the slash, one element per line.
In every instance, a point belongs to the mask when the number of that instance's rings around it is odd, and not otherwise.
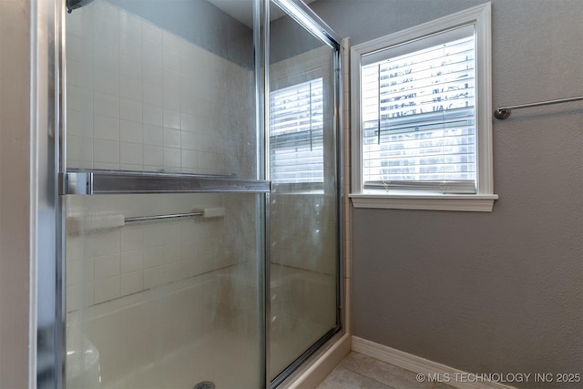
<path fill-rule="evenodd" d="M 67 332 L 95 345 L 101 383 L 77 377 L 67 389 L 190 389 L 203 381 L 216 388 L 261 387 L 257 287 L 247 277 L 253 272 L 241 267 L 71 312 Z M 314 316 L 317 312 L 294 314 L 309 295 L 313 300 L 325 287 L 316 282 L 322 281 L 320 276 L 303 272 L 284 271 L 285 276 L 271 282 L 271 365 L 276 373 L 330 329 Z M 299 298 L 290 296 L 298 292 Z"/>

